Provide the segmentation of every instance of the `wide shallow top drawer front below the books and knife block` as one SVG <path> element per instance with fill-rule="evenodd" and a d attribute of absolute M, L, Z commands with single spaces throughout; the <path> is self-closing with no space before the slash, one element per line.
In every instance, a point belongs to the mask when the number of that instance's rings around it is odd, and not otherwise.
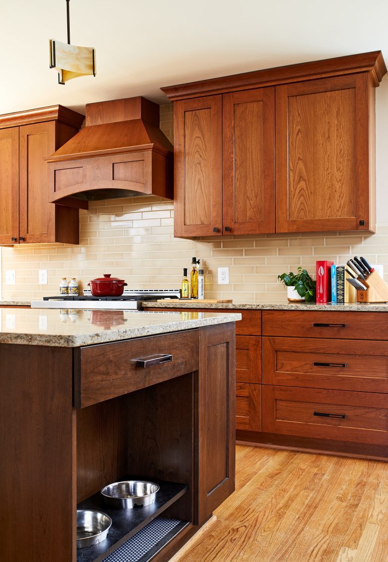
<path fill-rule="evenodd" d="M 385 312 L 264 310 L 263 336 L 388 339 Z"/>

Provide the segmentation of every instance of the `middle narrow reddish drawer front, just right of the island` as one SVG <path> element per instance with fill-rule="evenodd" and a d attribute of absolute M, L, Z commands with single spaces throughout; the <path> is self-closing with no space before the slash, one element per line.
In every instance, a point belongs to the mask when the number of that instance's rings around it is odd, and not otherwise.
<path fill-rule="evenodd" d="M 261 383 L 261 338 L 236 336 L 236 380 Z"/>

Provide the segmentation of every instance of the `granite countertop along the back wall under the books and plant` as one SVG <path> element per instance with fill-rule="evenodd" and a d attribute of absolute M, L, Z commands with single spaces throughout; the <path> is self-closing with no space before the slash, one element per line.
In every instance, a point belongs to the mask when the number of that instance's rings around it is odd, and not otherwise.
<path fill-rule="evenodd" d="M 165 302 L 143 302 L 143 307 L 147 308 L 171 308 L 171 309 L 222 309 L 222 310 L 323 310 L 323 311 L 355 311 L 355 312 L 388 312 L 388 303 L 375 302 L 346 302 L 344 305 L 337 305 L 332 302 L 288 302 L 284 300 L 273 302 L 219 302 L 201 303 L 200 301 L 165 301 Z"/>

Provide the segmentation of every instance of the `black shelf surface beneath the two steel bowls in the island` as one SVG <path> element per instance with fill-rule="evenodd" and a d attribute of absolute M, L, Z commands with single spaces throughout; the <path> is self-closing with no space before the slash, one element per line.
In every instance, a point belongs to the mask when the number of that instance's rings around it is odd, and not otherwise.
<path fill-rule="evenodd" d="M 137 480 L 139 478 L 125 476 L 122 480 Z M 115 551 L 135 533 L 140 531 L 150 521 L 163 513 L 174 504 L 188 490 L 187 484 L 164 482 L 152 479 L 159 485 L 156 500 L 153 504 L 133 509 L 112 509 L 105 504 L 100 492 L 95 493 L 77 505 L 77 509 L 97 509 L 103 511 L 112 519 L 112 527 L 107 538 L 100 544 L 77 549 L 77 562 L 100 562 L 111 552 Z"/>

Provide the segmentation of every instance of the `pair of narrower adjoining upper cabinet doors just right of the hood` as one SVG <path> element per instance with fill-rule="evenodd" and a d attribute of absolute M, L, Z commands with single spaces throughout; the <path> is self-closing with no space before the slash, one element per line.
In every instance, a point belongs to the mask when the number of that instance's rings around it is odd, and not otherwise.
<path fill-rule="evenodd" d="M 179 237 L 275 232 L 275 88 L 174 106 Z"/>

